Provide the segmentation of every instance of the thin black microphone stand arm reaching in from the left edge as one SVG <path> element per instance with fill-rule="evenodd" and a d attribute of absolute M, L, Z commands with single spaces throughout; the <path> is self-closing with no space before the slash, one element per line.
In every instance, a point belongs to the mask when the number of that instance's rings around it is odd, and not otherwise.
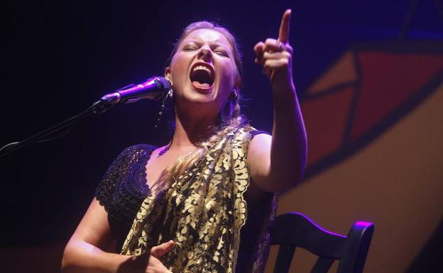
<path fill-rule="evenodd" d="M 49 140 L 55 140 L 58 138 L 62 138 L 66 133 L 68 133 L 77 123 L 82 119 L 86 118 L 87 116 L 92 115 L 93 113 L 101 114 L 105 111 L 109 110 L 112 106 L 115 104 L 109 104 L 106 101 L 103 101 L 102 99 L 99 101 L 94 102 L 92 106 L 89 106 L 86 110 L 82 111 L 81 113 L 78 113 L 75 116 L 72 116 L 70 118 L 67 118 L 67 120 L 62 121 L 55 126 L 51 126 L 50 128 L 41 131 L 40 133 L 36 133 L 35 135 L 32 135 L 29 138 L 26 138 L 25 140 L 21 140 L 19 142 L 9 143 L 4 145 L 0 148 L 0 157 L 4 157 L 5 155 L 8 155 L 9 153 L 20 149 L 21 147 L 25 147 L 26 145 L 29 145 L 31 143 L 43 143 Z M 60 132 L 59 135 L 56 135 L 53 138 L 47 138 L 49 135 L 53 135 L 54 133 Z"/>

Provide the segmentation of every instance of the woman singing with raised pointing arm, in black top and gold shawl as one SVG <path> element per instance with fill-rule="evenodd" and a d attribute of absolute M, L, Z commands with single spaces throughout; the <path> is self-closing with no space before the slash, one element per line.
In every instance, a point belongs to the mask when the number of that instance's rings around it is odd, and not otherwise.
<path fill-rule="evenodd" d="M 276 193 L 300 181 L 306 161 L 289 23 L 290 10 L 278 39 L 253 48 L 272 86 L 272 136 L 240 114 L 234 36 L 206 21 L 185 28 L 165 69 L 173 138 L 114 160 L 67 243 L 63 272 L 263 272 Z"/>

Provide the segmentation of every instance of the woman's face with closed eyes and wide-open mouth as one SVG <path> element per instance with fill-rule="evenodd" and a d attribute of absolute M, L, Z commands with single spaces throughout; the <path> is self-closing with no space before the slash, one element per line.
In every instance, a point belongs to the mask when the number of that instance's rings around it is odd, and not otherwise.
<path fill-rule="evenodd" d="M 192 31 L 178 45 L 165 71 L 178 107 L 219 113 L 239 78 L 233 49 L 222 33 L 211 29 Z M 187 108 L 189 111 L 190 108 Z"/>

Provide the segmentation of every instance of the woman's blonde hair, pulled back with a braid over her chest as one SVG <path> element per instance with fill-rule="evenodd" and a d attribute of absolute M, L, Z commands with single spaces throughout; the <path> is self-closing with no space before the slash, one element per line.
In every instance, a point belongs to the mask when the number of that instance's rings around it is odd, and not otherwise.
<path fill-rule="evenodd" d="M 236 65 L 237 72 L 237 86 L 240 89 L 242 78 L 243 78 L 243 66 L 241 62 L 241 52 L 239 50 L 239 45 L 237 45 L 234 35 L 232 35 L 229 30 L 223 28 L 222 26 L 218 26 L 215 23 L 210 23 L 208 21 L 199 21 L 195 23 L 191 23 L 188 25 L 182 32 L 182 35 L 175 43 L 173 52 L 171 52 L 169 58 L 169 64 L 172 62 L 175 53 L 178 50 L 178 47 L 182 40 L 186 38 L 187 35 L 192 33 L 194 30 L 198 29 L 212 29 L 216 30 L 219 33 L 222 33 L 227 40 L 229 41 L 232 51 L 234 62 Z M 224 137 L 227 133 L 239 128 L 242 124 L 244 124 L 244 118 L 240 115 L 240 94 L 239 90 L 233 90 L 231 96 L 229 96 L 229 101 L 225 104 L 224 108 L 221 109 L 219 113 L 219 126 L 216 128 L 212 128 L 214 133 L 207 138 L 207 140 L 203 140 L 200 143 L 197 143 L 197 150 L 194 152 L 187 153 L 186 155 L 182 155 L 177 159 L 177 161 L 165 168 L 163 172 L 160 174 L 160 177 L 155 185 L 157 186 L 156 190 L 165 190 L 168 189 L 170 184 L 175 182 L 182 172 L 185 172 L 186 169 L 189 169 L 192 165 L 195 165 L 207 152 L 209 147 L 212 147 L 217 141 Z M 211 128 L 209 128 L 211 129 Z"/>

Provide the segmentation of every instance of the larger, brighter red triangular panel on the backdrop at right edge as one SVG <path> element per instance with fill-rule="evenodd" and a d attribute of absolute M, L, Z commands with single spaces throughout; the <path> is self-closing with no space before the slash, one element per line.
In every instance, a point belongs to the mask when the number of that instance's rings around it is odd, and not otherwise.
<path fill-rule="evenodd" d="M 368 133 L 441 69 L 443 57 L 393 52 L 359 52 L 360 90 L 351 140 Z"/>

